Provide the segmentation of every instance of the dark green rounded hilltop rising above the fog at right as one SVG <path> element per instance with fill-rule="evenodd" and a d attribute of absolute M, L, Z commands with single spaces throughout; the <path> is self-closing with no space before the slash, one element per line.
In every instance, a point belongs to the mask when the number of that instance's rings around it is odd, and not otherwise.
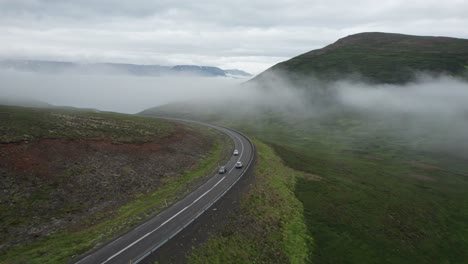
<path fill-rule="evenodd" d="M 254 81 L 282 73 L 330 81 L 354 76 L 373 83 L 406 83 L 417 73 L 468 78 L 468 40 L 392 33 L 360 33 L 278 63 Z"/>

